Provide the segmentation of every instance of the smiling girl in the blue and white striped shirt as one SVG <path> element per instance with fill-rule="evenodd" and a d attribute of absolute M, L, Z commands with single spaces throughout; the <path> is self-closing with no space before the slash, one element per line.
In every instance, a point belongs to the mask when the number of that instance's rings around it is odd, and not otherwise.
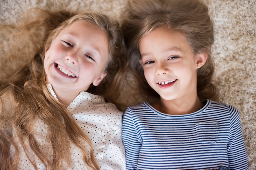
<path fill-rule="evenodd" d="M 215 102 L 213 23 L 199 0 L 140 0 L 122 24 L 130 67 L 153 104 L 128 107 L 128 170 L 247 170 L 238 110 Z"/>

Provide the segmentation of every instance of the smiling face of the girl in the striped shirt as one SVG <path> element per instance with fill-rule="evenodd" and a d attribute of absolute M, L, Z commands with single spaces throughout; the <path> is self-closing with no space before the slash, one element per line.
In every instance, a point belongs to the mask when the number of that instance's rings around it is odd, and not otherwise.
<path fill-rule="evenodd" d="M 139 42 L 144 76 L 161 100 L 195 98 L 196 70 L 206 54 L 194 56 L 185 37 L 165 27 L 157 28 Z"/>

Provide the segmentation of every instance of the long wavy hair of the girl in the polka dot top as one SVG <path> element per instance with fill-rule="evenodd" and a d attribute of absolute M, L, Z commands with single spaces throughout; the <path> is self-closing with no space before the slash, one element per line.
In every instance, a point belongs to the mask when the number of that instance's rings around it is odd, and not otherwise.
<path fill-rule="evenodd" d="M 76 21 L 93 24 L 105 31 L 108 35 L 108 62 L 104 71 L 108 77 L 99 87 L 89 87 L 88 92 L 101 95 L 107 100 L 116 102 L 119 93 L 120 76 L 124 74 L 124 59 L 121 58 L 122 33 L 119 24 L 110 20 L 106 15 L 94 12 L 83 12 L 77 15 L 68 11 L 44 11 L 33 9 L 33 20 L 18 26 L 4 26 L 20 30 L 19 34 L 34 30 L 45 31 L 45 43 L 40 46 L 38 53 L 31 62 L 16 71 L 7 79 L 0 79 L 0 167 L 2 169 L 17 169 L 19 152 L 18 144 L 13 141 L 12 133 L 16 131 L 17 137 L 28 155 L 31 149 L 36 156 L 49 169 L 61 170 L 63 160 L 70 162 L 70 143 L 81 149 L 83 159 L 89 168 L 99 170 L 94 159 L 90 139 L 76 124 L 74 118 L 68 113 L 65 106 L 55 100 L 47 89 L 46 74 L 43 68 L 44 53 L 51 46 L 54 38 L 65 28 Z M 2 27 L 3 28 L 3 27 Z M 48 31 L 49 34 L 47 33 Z M 117 103 L 117 102 L 116 102 Z M 43 153 L 40 145 L 33 136 L 33 127 L 36 119 L 47 124 L 49 139 L 52 145 L 53 157 Z M 63 123 L 64 120 L 64 123 Z M 29 142 L 29 145 L 26 145 Z M 11 157 L 10 147 L 13 145 L 17 152 Z M 88 145 L 85 148 L 84 145 Z M 29 146 L 29 148 L 27 148 Z M 89 149 L 89 150 L 88 150 Z M 67 152 L 68 153 L 67 153 Z M 88 154 L 90 153 L 90 154 Z M 29 156 L 28 156 L 29 157 Z M 31 160 L 29 160 L 31 161 Z M 33 163 L 34 168 L 36 164 Z"/>

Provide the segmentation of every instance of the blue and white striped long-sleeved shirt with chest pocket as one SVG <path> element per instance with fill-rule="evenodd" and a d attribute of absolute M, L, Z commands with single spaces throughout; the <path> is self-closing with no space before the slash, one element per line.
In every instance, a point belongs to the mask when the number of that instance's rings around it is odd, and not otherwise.
<path fill-rule="evenodd" d="M 144 102 L 128 107 L 123 142 L 128 170 L 248 170 L 238 110 L 205 101 L 199 111 L 168 115 Z"/>

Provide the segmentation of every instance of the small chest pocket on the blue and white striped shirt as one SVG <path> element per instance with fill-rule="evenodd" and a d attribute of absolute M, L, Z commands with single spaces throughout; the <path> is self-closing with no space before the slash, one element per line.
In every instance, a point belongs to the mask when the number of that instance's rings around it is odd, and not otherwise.
<path fill-rule="evenodd" d="M 203 122 L 195 126 L 200 143 L 213 144 L 218 141 L 218 122 Z"/>

